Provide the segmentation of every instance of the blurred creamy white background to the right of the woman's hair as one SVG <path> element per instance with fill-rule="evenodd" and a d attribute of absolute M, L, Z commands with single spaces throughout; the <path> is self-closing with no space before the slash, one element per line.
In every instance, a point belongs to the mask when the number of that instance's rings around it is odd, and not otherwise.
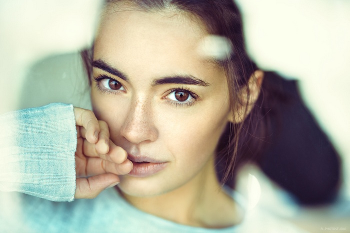
<path fill-rule="evenodd" d="M 350 200 L 350 1 L 236 0 L 258 66 L 299 80 L 303 100 L 342 157 Z"/>

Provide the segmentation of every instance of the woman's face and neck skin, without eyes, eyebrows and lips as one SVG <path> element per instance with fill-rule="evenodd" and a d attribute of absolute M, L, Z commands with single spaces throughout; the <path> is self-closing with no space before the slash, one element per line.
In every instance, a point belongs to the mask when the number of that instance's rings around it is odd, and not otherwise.
<path fill-rule="evenodd" d="M 121 77 L 94 67 L 91 100 L 110 140 L 128 154 L 145 155 L 166 167 L 148 177 L 119 176 L 118 189 L 138 209 L 181 224 L 221 228 L 240 221 L 233 200 L 220 188 L 214 171 L 215 147 L 229 119 L 223 70 L 197 53 L 208 33 L 184 13 L 126 10 L 106 14 L 94 43 L 94 61 L 122 72 Z M 191 75 L 208 85 L 156 80 Z M 178 106 L 172 90 L 195 93 Z M 194 95 L 193 95 L 194 96 Z M 232 211 L 235 210 L 235 211 Z"/>

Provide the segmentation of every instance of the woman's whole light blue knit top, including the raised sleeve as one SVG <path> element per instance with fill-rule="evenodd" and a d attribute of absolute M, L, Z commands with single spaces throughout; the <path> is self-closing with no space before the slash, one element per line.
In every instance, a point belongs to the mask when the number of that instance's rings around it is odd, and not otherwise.
<path fill-rule="evenodd" d="M 256 208 L 237 226 L 184 226 L 134 208 L 114 188 L 92 200 L 72 201 L 76 130 L 71 105 L 4 114 L 0 130 L 0 190 L 17 191 L 0 192 L 0 232 L 300 232 Z"/>

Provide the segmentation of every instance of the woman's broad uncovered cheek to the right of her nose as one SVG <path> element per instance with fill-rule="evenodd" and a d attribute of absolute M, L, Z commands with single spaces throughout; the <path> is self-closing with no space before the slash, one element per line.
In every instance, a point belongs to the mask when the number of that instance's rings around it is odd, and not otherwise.
<path fill-rule="evenodd" d="M 164 122 L 163 141 L 177 163 L 199 165 L 213 156 L 227 123 L 228 106 L 227 111 L 205 107 L 186 116 L 174 116 L 168 115 Z"/>

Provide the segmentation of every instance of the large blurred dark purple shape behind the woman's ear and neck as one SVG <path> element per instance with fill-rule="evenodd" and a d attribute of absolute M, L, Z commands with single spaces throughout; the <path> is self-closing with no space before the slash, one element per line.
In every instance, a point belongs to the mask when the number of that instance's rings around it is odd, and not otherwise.
<path fill-rule="evenodd" d="M 248 128 L 246 135 L 256 135 L 256 138 L 246 137 L 250 139 L 243 142 L 244 146 L 237 154 L 234 176 L 241 165 L 254 162 L 300 204 L 331 202 L 340 185 L 340 159 L 302 102 L 297 82 L 265 72 L 262 90 L 257 103 L 262 113 L 257 120 L 263 128 L 260 131 Z M 223 137 L 228 135 L 227 129 Z M 224 145 L 219 145 L 218 149 L 220 146 Z M 252 148 L 257 149 L 253 151 Z M 218 161 L 221 179 L 225 159 Z M 227 185 L 234 187 L 234 176 Z"/>

